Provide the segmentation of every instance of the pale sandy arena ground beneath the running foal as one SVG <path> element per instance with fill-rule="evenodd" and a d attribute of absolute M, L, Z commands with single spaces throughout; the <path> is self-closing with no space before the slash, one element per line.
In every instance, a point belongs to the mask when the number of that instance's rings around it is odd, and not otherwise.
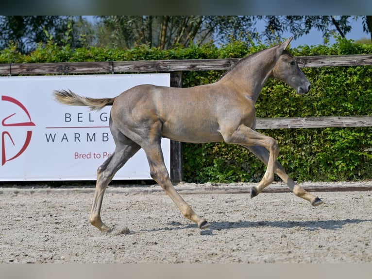
<path fill-rule="evenodd" d="M 331 189 L 329 184 L 314 185 Z M 101 210 L 102 221 L 114 227 L 109 234 L 88 222 L 92 187 L 1 187 L 0 259 L 2 263 L 370 263 L 372 192 L 338 185 L 344 191 L 315 192 L 324 201 L 319 207 L 279 191 L 285 189 L 281 184 L 253 199 L 248 193 L 251 184 L 177 185 L 186 202 L 211 223 L 205 230 L 185 219 L 157 185 L 109 187 Z M 372 187 L 372 182 L 366 185 Z"/>

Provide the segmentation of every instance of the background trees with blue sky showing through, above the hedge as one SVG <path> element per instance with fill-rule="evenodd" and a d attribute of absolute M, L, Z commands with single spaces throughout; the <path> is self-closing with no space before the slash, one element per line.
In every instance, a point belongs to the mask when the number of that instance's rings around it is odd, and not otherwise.
<path fill-rule="evenodd" d="M 68 41 L 72 49 L 104 47 L 132 49 L 139 45 L 172 49 L 190 44 L 216 45 L 234 40 L 276 43 L 286 33 L 295 37 L 318 30 L 325 40 L 333 34 L 345 38 L 355 20 L 372 36 L 372 16 L 0 16 L 0 49 L 13 43 L 29 53 L 53 35 L 58 46 Z M 256 29 L 264 22 L 263 30 Z"/>

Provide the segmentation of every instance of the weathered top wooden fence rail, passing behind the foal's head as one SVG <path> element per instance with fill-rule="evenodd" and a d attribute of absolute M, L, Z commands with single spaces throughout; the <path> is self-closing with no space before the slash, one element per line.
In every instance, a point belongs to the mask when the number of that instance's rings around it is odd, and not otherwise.
<path fill-rule="evenodd" d="M 188 59 L 154 61 L 106 61 L 0 64 L 0 75 L 92 74 L 119 72 L 174 72 L 228 70 L 240 59 Z M 372 54 L 297 56 L 300 67 L 371 66 Z"/>

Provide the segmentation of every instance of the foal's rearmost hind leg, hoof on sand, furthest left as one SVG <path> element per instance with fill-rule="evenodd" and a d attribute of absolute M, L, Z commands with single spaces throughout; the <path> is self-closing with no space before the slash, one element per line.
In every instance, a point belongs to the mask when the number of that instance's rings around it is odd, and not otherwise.
<path fill-rule="evenodd" d="M 116 172 L 140 149 L 138 144 L 121 134 L 116 127 L 111 126 L 110 128 L 116 148 L 114 153 L 98 168 L 96 190 L 89 217 L 90 224 L 99 228 L 102 232 L 110 231 L 110 228 L 101 221 L 101 205 L 104 191 Z"/>

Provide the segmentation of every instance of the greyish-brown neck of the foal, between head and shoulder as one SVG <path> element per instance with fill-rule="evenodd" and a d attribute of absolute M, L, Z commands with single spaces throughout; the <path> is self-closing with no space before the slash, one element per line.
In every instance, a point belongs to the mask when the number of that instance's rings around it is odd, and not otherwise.
<path fill-rule="evenodd" d="M 236 88 L 255 103 L 275 63 L 275 47 L 256 52 L 240 60 L 220 81 Z"/>

